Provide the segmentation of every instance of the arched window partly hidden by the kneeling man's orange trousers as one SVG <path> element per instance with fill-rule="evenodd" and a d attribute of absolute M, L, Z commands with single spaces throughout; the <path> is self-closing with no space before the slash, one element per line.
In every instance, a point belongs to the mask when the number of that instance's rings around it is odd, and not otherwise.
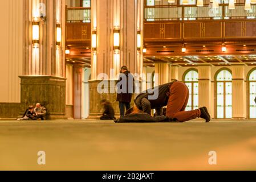
<path fill-rule="evenodd" d="M 194 69 L 186 72 L 184 82 L 189 88 L 189 101 L 186 110 L 198 109 L 198 72 Z"/>

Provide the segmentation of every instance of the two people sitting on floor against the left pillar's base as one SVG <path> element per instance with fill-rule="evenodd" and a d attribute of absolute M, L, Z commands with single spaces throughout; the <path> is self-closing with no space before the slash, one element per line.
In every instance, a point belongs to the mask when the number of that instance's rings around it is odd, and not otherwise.
<path fill-rule="evenodd" d="M 46 119 L 46 108 L 42 106 L 40 103 L 36 104 L 36 106 L 29 106 L 22 118 L 18 119 L 18 121 L 27 121 L 27 120 L 45 120 Z"/>

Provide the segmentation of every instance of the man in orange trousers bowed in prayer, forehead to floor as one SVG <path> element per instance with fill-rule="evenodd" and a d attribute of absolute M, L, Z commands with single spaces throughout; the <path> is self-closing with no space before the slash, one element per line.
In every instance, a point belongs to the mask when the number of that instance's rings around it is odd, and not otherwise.
<path fill-rule="evenodd" d="M 152 94 L 158 92 L 159 96 L 151 99 Z M 139 94 L 135 99 L 135 106 L 129 109 L 126 115 L 136 115 L 139 113 L 148 113 L 156 109 L 156 115 L 162 115 L 162 107 L 166 108 L 166 117 L 171 121 L 186 122 L 196 118 L 203 118 L 210 122 L 210 114 L 206 107 L 197 110 L 185 111 L 189 100 L 189 89 L 183 82 L 173 81 L 168 84 L 160 85 L 145 93 Z"/>

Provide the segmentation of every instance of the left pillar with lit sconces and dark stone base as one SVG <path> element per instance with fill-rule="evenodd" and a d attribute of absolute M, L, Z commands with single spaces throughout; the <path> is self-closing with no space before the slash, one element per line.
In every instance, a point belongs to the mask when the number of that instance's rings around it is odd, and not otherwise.
<path fill-rule="evenodd" d="M 48 119 L 64 119 L 65 0 L 25 0 L 25 53 L 21 76 L 21 106 L 42 103 Z"/>

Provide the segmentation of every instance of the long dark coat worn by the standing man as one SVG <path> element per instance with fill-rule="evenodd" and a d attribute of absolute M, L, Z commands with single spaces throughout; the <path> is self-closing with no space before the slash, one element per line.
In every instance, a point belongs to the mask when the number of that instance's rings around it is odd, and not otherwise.
<path fill-rule="evenodd" d="M 122 74 L 122 73 L 121 73 Z M 124 72 L 123 73 L 126 78 L 127 78 L 127 82 L 126 82 L 126 89 L 122 91 L 123 86 L 121 85 L 121 81 L 122 81 L 122 77 L 119 77 L 119 81 L 117 81 L 117 102 L 127 102 L 130 103 L 132 101 L 132 93 L 134 90 L 134 78 L 133 76 L 130 74 L 129 71 Z M 130 74 L 130 75 L 129 75 Z M 129 79 L 132 79 L 132 82 L 129 82 Z M 120 93 L 121 92 L 121 93 Z"/>

